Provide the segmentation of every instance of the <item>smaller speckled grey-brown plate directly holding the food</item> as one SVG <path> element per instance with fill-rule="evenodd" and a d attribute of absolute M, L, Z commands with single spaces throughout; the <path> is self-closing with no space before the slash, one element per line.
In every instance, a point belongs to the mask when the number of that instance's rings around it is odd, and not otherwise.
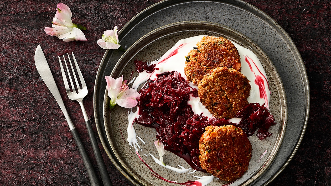
<path fill-rule="evenodd" d="M 158 28 L 147 35 L 143 36 L 136 43 L 134 43 L 118 60 L 111 76 L 117 78 L 124 75 L 124 79 L 128 79 L 132 71 L 135 71 L 133 61 L 135 59 L 143 61 L 154 61 L 166 53 L 176 42 L 180 39 L 193 37 L 197 35 L 212 35 L 222 36 L 231 41 L 236 42 L 252 51 L 260 59 L 264 70 L 266 71 L 268 82 L 270 85 L 270 112 L 273 114 L 277 125 L 272 126 L 269 131 L 273 133 L 270 137 L 264 140 L 259 140 L 255 135 L 250 136 L 252 143 L 252 159 L 250 161 L 249 169 L 245 174 L 236 180 L 233 185 L 249 185 L 254 183 L 261 175 L 270 167 L 275 159 L 280 145 L 282 143 L 287 121 L 287 103 L 286 95 L 283 88 L 282 81 L 279 74 L 272 64 L 271 60 L 266 54 L 249 38 L 241 33 L 214 23 L 201 21 L 185 21 L 178 22 Z M 183 60 L 184 56 L 183 56 Z M 137 77 L 138 73 L 134 73 Z M 134 184 L 142 185 L 165 185 L 169 184 L 162 179 L 152 175 L 152 172 L 143 164 L 143 162 L 134 153 L 135 150 L 129 145 L 127 140 L 126 128 L 128 125 L 127 109 L 116 106 L 113 110 L 109 110 L 109 96 L 105 90 L 104 96 L 104 125 L 108 137 L 108 142 L 114 153 L 114 159 L 119 163 L 122 171 L 127 172 L 136 181 Z M 138 143 L 143 151 L 139 153 L 142 159 L 159 175 L 168 180 L 175 180 L 178 183 L 183 183 L 188 180 L 195 180 L 195 176 L 206 176 L 210 174 L 196 172 L 194 174 L 177 174 L 176 172 L 167 168 L 159 166 L 154 162 L 149 153 L 158 156 L 158 152 L 154 146 L 156 140 L 156 130 L 153 128 L 146 128 L 137 124 L 133 125 L 137 136 L 143 139 L 143 142 L 138 140 Z M 124 138 L 124 139 L 123 139 Z M 267 154 L 258 163 L 260 155 L 268 150 Z M 143 155 L 148 155 L 143 156 Z M 167 152 L 164 157 L 167 165 L 177 167 L 181 165 L 189 168 L 188 164 L 176 155 Z M 213 180 L 208 185 L 224 185 L 226 181 Z"/>

